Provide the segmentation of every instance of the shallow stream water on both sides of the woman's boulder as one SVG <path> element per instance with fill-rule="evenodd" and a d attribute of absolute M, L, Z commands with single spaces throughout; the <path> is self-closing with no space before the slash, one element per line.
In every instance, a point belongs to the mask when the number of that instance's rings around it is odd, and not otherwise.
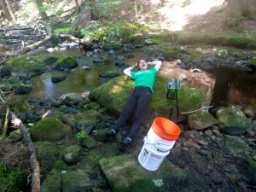
<path fill-rule="evenodd" d="M 64 52 L 58 54 L 65 54 Z M 56 72 L 44 73 L 32 78 L 33 90 L 26 96 L 39 96 L 59 98 L 68 92 L 83 93 L 95 89 L 100 84 L 100 75 L 107 71 L 116 71 L 122 74 L 123 69 L 109 65 L 92 65 L 88 57 L 81 56 L 81 52 L 73 52 L 79 55 L 79 67 L 72 72 L 65 73 L 67 79 L 53 84 L 51 77 Z M 134 65 L 139 59 L 147 58 L 142 52 L 132 53 L 134 58 L 125 59 L 129 65 Z M 82 67 L 88 66 L 90 71 Z M 256 111 L 256 74 L 248 74 L 238 69 L 218 68 L 210 72 L 196 72 L 195 70 L 183 70 L 164 61 L 160 70 L 161 75 L 168 78 L 178 78 L 182 84 L 202 90 L 214 107 L 227 105 L 228 103 L 241 105 Z M 166 82 L 167 83 L 167 82 Z"/>

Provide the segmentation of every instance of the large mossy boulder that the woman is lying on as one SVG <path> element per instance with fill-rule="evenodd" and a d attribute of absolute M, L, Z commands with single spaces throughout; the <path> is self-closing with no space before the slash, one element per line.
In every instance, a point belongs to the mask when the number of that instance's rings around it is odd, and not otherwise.
<path fill-rule="evenodd" d="M 169 115 L 172 100 L 166 98 L 166 84 L 169 79 L 156 76 L 154 96 L 148 107 L 148 118 Z M 119 115 L 125 108 L 128 96 L 131 94 L 134 81 L 125 75 L 109 80 L 95 90 L 90 91 L 90 100 L 98 102 L 103 108 L 108 108 L 111 113 Z M 180 112 L 188 112 L 205 107 L 206 97 L 195 88 L 181 86 L 178 94 Z M 167 113 L 166 113 L 167 112 Z M 175 107 L 174 107 L 175 112 Z"/>

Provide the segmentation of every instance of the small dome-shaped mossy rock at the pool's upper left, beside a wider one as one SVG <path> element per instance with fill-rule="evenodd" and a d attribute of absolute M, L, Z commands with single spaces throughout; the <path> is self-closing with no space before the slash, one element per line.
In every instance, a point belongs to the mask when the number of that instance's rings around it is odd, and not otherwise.
<path fill-rule="evenodd" d="M 73 58 L 73 56 L 62 55 L 57 61 L 55 61 L 53 68 L 56 70 L 65 70 L 78 67 L 78 65 L 78 62 Z"/>

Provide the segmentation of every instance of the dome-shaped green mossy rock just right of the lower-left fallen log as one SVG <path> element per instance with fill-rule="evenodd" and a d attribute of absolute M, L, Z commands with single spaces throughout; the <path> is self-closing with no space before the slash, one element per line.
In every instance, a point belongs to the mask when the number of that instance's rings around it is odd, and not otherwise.
<path fill-rule="evenodd" d="M 61 120 L 54 117 L 49 117 L 39 120 L 29 130 L 32 141 L 58 141 L 71 133 L 72 130 L 67 125 L 63 124 Z"/>

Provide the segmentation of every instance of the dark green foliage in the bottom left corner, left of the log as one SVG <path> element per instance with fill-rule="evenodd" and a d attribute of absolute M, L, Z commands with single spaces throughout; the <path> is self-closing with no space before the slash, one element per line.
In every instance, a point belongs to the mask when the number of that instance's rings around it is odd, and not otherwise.
<path fill-rule="evenodd" d="M 1 192 L 20 191 L 19 184 L 20 184 L 21 177 L 23 177 L 22 172 L 5 168 L 3 164 L 0 163 L 0 191 Z"/>

